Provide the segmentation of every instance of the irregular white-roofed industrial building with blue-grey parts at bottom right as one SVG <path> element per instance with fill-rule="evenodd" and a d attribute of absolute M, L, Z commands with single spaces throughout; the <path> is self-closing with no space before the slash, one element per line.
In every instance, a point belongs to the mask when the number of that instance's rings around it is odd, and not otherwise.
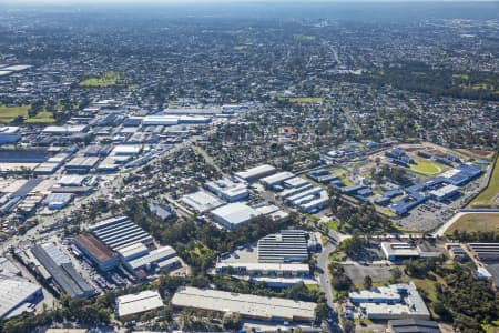
<path fill-rule="evenodd" d="M 370 320 L 430 319 L 428 307 L 411 281 L 350 292 L 348 299 Z"/>

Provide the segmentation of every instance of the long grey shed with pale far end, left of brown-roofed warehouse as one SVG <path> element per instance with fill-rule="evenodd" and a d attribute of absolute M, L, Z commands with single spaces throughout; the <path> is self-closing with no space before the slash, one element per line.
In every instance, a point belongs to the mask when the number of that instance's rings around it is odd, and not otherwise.
<path fill-rule="evenodd" d="M 55 245 L 48 243 L 31 249 L 43 268 L 40 274 L 48 278 L 61 292 L 70 297 L 92 296 L 93 287 L 74 270 L 69 259 Z M 34 263 L 37 266 L 37 263 Z"/>

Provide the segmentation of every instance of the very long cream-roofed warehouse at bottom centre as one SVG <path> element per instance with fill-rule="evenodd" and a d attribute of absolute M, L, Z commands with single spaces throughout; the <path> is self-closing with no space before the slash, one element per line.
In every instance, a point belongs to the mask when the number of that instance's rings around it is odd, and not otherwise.
<path fill-rule="evenodd" d="M 216 290 L 182 286 L 173 295 L 172 305 L 222 313 L 240 313 L 243 317 L 273 321 L 314 321 L 316 303 L 278 297 L 237 294 Z"/>

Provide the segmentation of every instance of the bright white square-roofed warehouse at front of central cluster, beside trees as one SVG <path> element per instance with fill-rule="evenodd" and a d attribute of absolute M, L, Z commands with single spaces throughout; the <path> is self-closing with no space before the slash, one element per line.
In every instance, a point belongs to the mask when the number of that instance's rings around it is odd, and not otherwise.
<path fill-rule="evenodd" d="M 217 208 L 211 214 L 216 223 L 227 229 L 241 226 L 261 215 L 257 210 L 241 202 L 228 203 Z"/>

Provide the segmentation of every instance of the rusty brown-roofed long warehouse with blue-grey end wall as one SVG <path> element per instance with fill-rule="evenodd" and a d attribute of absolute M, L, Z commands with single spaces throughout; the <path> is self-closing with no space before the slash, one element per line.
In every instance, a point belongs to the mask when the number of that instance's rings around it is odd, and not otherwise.
<path fill-rule="evenodd" d="M 118 256 L 93 235 L 79 234 L 74 238 L 74 244 L 99 270 L 106 272 L 118 266 Z"/>

